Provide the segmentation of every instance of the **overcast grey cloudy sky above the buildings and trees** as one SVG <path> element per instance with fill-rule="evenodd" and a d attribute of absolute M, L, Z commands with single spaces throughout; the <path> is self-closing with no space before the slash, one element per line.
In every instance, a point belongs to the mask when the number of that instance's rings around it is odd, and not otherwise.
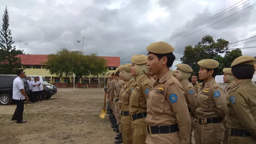
<path fill-rule="evenodd" d="M 135 54 L 146 54 L 149 44 L 175 36 L 239 1 L 241 0 L 0 0 L 0 10 L 3 14 L 5 5 L 8 6 L 14 45 L 19 49 L 17 39 L 28 43 L 20 43 L 20 49 L 26 54 L 50 54 L 62 47 L 82 50 L 83 43 L 76 42 L 82 39 L 81 33 L 87 39 L 84 41 L 84 54 L 119 56 L 121 64 L 124 64 L 130 63 Z M 239 4 L 245 1 L 247 0 Z M 224 38 L 229 43 L 256 36 L 256 4 L 204 28 L 254 3 L 254 0 L 249 0 L 170 40 L 172 42 L 169 44 L 175 49 L 174 54 L 182 54 L 186 45 L 197 44 L 205 35 L 211 35 L 215 40 Z M 201 28 L 204 29 L 199 30 Z M 199 31 L 186 36 L 197 30 Z M 182 36 L 185 37 L 180 38 Z M 241 45 L 230 48 L 256 46 L 256 41 L 242 44 L 252 40 L 256 40 L 256 37 L 232 44 Z M 242 51 L 243 55 L 256 56 L 256 48 Z M 177 60 L 180 57 L 177 56 Z M 177 63 L 179 62 L 175 61 L 174 64 Z"/>

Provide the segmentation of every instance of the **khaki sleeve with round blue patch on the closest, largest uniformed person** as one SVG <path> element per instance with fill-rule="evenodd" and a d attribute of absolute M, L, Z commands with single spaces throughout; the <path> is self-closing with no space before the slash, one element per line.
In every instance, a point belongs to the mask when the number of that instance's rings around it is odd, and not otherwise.
<path fill-rule="evenodd" d="M 184 92 L 176 84 L 171 84 L 167 90 L 167 98 L 177 118 L 180 144 L 188 144 L 191 130 L 191 119 L 188 113 Z"/>

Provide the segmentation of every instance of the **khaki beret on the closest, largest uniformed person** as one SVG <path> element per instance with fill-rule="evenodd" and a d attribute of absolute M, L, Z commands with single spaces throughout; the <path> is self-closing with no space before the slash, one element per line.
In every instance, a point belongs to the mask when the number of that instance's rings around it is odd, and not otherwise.
<path fill-rule="evenodd" d="M 156 53 L 156 54 L 165 54 L 171 53 L 174 51 L 174 48 L 166 43 L 166 42 L 155 42 L 149 44 L 147 47 L 148 52 Z"/>

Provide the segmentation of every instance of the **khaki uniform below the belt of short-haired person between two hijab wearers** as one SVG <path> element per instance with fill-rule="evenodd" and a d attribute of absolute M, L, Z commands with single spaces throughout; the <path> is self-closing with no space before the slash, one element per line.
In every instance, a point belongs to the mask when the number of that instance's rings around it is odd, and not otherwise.
<path fill-rule="evenodd" d="M 222 123 L 207 124 L 196 123 L 195 142 L 196 144 L 222 144 L 225 128 Z"/>

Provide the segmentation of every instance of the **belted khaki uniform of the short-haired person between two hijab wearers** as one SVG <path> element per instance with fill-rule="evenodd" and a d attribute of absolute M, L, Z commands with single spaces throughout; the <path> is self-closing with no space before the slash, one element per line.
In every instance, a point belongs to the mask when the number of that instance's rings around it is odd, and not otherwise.
<path fill-rule="evenodd" d="M 225 128 L 221 123 L 225 117 L 225 93 L 214 78 L 203 82 L 195 98 L 196 144 L 221 144 Z M 214 135 L 214 136 L 213 136 Z"/>

